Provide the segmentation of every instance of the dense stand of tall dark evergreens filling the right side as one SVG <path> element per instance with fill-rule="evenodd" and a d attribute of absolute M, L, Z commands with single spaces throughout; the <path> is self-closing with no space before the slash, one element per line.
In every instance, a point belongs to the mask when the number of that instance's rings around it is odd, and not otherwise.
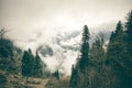
<path fill-rule="evenodd" d="M 107 52 L 99 34 L 89 48 L 88 26 L 84 26 L 80 55 L 73 65 L 72 88 L 132 88 L 132 11 L 127 22 L 118 22 Z"/>

